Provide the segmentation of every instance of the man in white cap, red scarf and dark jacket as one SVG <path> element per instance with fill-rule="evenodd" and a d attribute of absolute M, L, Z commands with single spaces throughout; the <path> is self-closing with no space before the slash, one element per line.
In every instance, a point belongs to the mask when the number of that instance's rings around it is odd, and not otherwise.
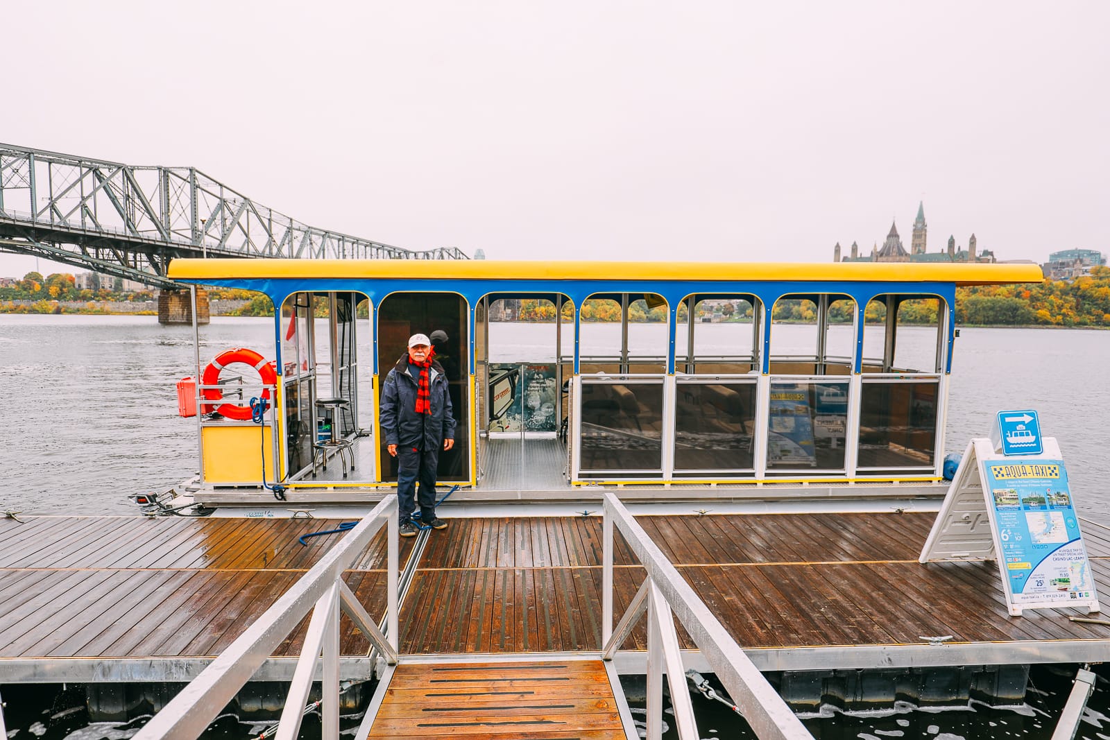
<path fill-rule="evenodd" d="M 414 537 L 412 515 L 420 480 L 421 523 L 444 529 L 435 516 L 435 473 L 440 449 L 455 446 L 455 417 L 447 393 L 447 376 L 433 357 L 432 342 L 424 334 L 408 337 L 408 352 L 385 376 L 379 417 L 390 455 L 397 458 L 397 497 L 401 536 Z"/>

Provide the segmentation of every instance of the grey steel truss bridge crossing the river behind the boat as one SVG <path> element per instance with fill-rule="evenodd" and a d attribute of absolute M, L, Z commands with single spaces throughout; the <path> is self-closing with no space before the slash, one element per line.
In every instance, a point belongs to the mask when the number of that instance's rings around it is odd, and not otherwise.
<path fill-rule="evenodd" d="M 465 260 L 307 226 L 195 168 L 135 166 L 0 143 L 0 252 L 178 287 L 173 257 Z"/>

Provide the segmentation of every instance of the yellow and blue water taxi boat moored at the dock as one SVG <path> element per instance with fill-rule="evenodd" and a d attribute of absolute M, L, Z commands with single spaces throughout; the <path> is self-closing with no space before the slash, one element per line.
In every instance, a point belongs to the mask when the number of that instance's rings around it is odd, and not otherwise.
<path fill-rule="evenodd" d="M 616 484 L 637 500 L 675 498 L 675 487 L 692 498 L 728 490 L 729 497 L 798 499 L 814 484 L 851 498 L 885 495 L 881 486 L 852 486 L 857 483 L 898 485 L 901 495 L 939 495 L 956 287 L 1039 280 L 1038 270 L 174 260 L 170 275 L 179 282 L 256 291 L 275 306 L 273 345 L 251 349 L 269 358 L 276 377 L 262 383 L 242 368 L 238 381 L 193 389 L 196 407 L 232 392 L 240 398 L 239 416 L 250 416 L 243 410 L 246 399 L 262 392 L 273 393 L 272 406 L 258 424 L 199 415 L 200 474 L 179 493 L 226 511 L 272 503 L 275 485 L 287 500 L 312 504 L 341 505 L 354 490 L 389 490 L 396 473 L 383 454 L 376 394 L 407 336 L 441 330 L 451 337 L 450 346 L 436 352 L 452 361 L 458 427 L 455 448 L 441 457 L 440 476 L 461 487 L 460 500 L 515 500 L 524 487 L 542 490 L 548 500 L 577 501 L 591 487 Z M 702 333 L 717 325 L 699 321 L 699 304 L 720 298 L 748 303 L 753 320 L 741 346 L 706 354 Z M 522 300 L 564 320 L 545 335 L 548 346 L 541 356 L 498 363 L 503 347 L 492 317 L 506 313 L 506 302 Z M 783 324 L 774 318 L 780 301 L 813 305 L 809 346 L 783 344 Z M 872 346 L 869 332 L 865 349 L 861 317 L 868 305 L 881 304 L 884 314 L 897 316 L 907 301 L 928 305 L 935 323 L 885 322 L 884 346 Z M 622 317 L 616 345 L 584 344 L 592 325 L 583 307 L 599 303 Z M 825 341 L 830 307 L 842 313 L 846 305 L 855 312 L 860 348 L 847 357 Z M 654 346 L 629 343 L 635 327 L 629 316 L 637 306 L 662 307 Z M 896 365 L 892 347 L 904 332 L 934 333 L 935 352 L 915 357 L 912 366 Z M 537 367 L 546 385 L 529 381 Z M 215 377 L 199 353 L 190 369 L 198 378 Z M 324 403 L 329 399 L 341 403 Z M 564 425 L 565 442 L 556 436 Z M 529 434 L 516 439 L 503 434 L 514 429 Z M 737 449 L 729 444 L 736 435 L 751 435 L 751 444 Z M 498 460 L 518 457 L 522 445 L 546 448 L 548 468 L 529 467 L 523 483 L 516 474 L 501 479 Z"/>

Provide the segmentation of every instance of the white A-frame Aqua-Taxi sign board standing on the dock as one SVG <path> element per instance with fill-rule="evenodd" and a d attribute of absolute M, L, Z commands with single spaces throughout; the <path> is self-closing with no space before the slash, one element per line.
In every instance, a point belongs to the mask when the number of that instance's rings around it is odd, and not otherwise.
<path fill-rule="evenodd" d="M 972 439 L 918 560 L 995 560 L 1012 616 L 1099 611 L 1060 447 L 1052 437 L 1043 445 L 1043 456 L 1006 456 Z"/>

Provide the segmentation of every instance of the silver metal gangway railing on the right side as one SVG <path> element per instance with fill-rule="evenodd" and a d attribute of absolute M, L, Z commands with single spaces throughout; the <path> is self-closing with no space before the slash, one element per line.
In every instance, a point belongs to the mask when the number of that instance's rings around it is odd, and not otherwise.
<path fill-rule="evenodd" d="M 744 649 L 713 616 L 686 579 L 610 491 L 604 491 L 602 657 L 612 660 L 632 628 L 647 612 L 647 738 L 663 734 L 663 673 L 670 687 L 672 709 L 680 740 L 702 737 L 686 687 L 674 617 L 713 667 L 733 702 L 760 740 L 813 740 L 775 688 L 744 653 Z M 613 627 L 613 533 L 620 531 L 647 572 L 616 628 Z"/>

